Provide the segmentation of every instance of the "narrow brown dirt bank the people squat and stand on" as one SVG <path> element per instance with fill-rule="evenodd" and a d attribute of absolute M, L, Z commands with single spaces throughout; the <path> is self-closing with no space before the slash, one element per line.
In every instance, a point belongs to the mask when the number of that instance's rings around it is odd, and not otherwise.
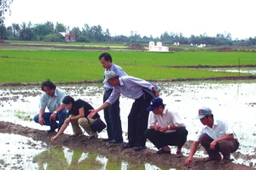
<path fill-rule="evenodd" d="M 44 141 L 49 144 L 49 139 L 55 133 L 45 133 L 42 130 L 33 129 L 30 127 L 23 127 L 21 125 L 14 124 L 12 122 L 0 122 L 0 133 L 15 133 L 20 134 L 26 137 L 31 137 L 34 140 Z M 93 140 L 93 142 L 92 142 Z M 122 149 L 121 144 L 108 144 L 102 142 L 102 139 L 91 139 L 89 140 L 86 136 L 81 138 L 69 138 L 67 134 L 62 134 L 59 139 L 55 141 L 54 144 L 65 145 L 69 148 L 76 148 L 84 151 L 91 151 L 100 153 L 105 156 L 116 156 L 118 159 L 122 160 L 130 160 L 135 162 L 150 162 L 154 163 L 154 165 L 164 165 L 164 167 L 177 167 L 177 169 L 187 169 L 184 166 L 184 162 L 186 160 L 186 156 L 183 158 L 176 158 L 175 155 L 156 155 L 154 150 L 142 150 L 135 152 L 132 149 Z M 190 147 L 191 142 L 189 142 L 186 147 Z M 250 159 L 249 157 L 247 157 Z M 254 169 L 253 167 L 247 167 L 240 164 L 228 163 L 226 165 L 219 165 L 218 161 L 209 161 L 204 163 L 200 158 L 195 158 L 193 161 L 192 167 L 189 169 L 204 169 L 204 170 L 248 170 Z"/>

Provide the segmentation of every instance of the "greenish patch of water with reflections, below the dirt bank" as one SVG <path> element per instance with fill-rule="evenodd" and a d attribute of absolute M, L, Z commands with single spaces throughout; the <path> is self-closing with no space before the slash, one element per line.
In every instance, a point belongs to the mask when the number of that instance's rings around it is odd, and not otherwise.
<path fill-rule="evenodd" d="M 123 161 L 118 158 L 101 156 L 97 153 L 84 153 L 80 150 L 69 150 L 62 146 L 49 146 L 49 150 L 44 150 L 34 157 L 38 163 L 39 170 L 158 170 L 163 169 L 149 163 L 140 164 Z"/>

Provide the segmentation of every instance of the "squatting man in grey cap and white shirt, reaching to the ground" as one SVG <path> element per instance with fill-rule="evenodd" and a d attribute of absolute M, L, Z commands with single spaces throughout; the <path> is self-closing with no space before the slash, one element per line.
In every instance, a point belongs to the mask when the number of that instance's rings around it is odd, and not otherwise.
<path fill-rule="evenodd" d="M 198 111 L 198 116 L 195 119 L 200 119 L 204 127 L 197 134 L 197 138 L 192 144 L 189 157 L 185 164 L 190 167 L 192 157 L 195 154 L 199 144 L 207 151 L 208 157 L 204 161 L 219 161 L 220 164 L 225 164 L 230 161 L 230 153 L 235 152 L 239 147 L 239 142 L 236 133 L 228 122 L 224 120 L 213 119 L 212 110 L 203 107 Z M 219 154 L 222 154 L 223 158 Z"/>

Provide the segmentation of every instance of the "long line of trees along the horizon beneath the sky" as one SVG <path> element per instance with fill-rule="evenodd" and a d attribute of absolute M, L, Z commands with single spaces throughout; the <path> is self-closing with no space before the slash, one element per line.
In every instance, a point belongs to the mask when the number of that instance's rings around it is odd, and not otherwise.
<path fill-rule="evenodd" d="M 109 30 L 102 30 L 102 26 L 88 26 L 73 27 L 71 30 L 69 26 L 64 26 L 61 23 L 47 21 L 41 24 L 32 25 L 31 22 L 26 24 L 13 23 L 11 26 L 0 24 L 0 39 L 2 40 L 19 40 L 19 41 L 44 41 L 44 42 L 64 42 L 64 37 L 60 32 L 69 32 L 75 36 L 76 42 L 104 42 L 104 43 L 140 43 L 148 44 L 150 41 L 162 42 L 165 45 L 179 44 L 207 44 L 212 46 L 255 46 L 256 37 L 249 37 L 243 40 L 232 40 L 231 34 L 228 32 L 218 33 L 216 37 L 209 37 L 206 33 L 200 36 L 191 35 L 190 37 L 183 37 L 182 33 L 174 33 L 167 31 L 162 33 L 160 37 L 146 37 L 137 34 L 136 31 L 131 31 L 130 36 L 115 35 L 111 36 Z"/>

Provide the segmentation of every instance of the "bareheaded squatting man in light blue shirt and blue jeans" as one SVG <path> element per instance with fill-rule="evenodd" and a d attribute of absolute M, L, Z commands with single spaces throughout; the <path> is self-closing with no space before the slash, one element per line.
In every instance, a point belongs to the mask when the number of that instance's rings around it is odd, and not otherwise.
<path fill-rule="evenodd" d="M 52 133 L 55 132 L 56 128 L 61 128 L 67 117 L 65 105 L 62 104 L 62 100 L 66 94 L 60 88 L 56 88 L 55 84 L 49 80 L 43 82 L 41 88 L 44 94 L 40 99 L 39 114 L 34 116 L 34 121 L 42 126 L 49 126 L 50 129 L 47 133 Z M 45 112 L 46 107 L 49 112 Z M 56 121 L 59 121 L 59 123 Z"/>

